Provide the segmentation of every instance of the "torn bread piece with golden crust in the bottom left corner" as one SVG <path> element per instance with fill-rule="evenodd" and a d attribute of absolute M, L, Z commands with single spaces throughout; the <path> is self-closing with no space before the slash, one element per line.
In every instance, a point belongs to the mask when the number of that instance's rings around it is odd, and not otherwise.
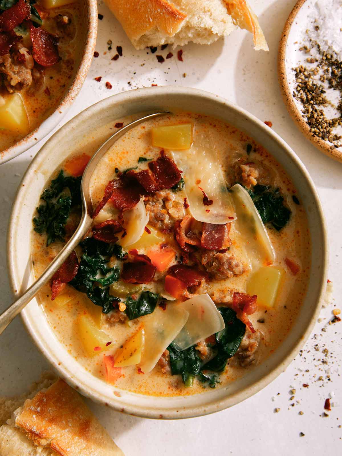
<path fill-rule="evenodd" d="M 17 452 L 18 445 L 23 448 L 20 453 Z M 61 379 L 27 399 L 14 412 L 14 417 L 0 427 L 0 455 L 19 454 L 123 455 L 81 396 Z"/>

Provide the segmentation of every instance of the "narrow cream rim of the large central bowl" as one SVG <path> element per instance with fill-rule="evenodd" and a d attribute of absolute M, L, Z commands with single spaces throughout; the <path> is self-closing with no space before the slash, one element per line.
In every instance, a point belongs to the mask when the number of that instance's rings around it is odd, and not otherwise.
<path fill-rule="evenodd" d="M 284 151 L 284 153 L 292 160 L 295 162 L 295 166 L 300 168 L 300 171 L 302 172 L 303 176 L 306 178 L 306 182 L 308 186 L 310 187 L 311 190 L 311 195 L 313 197 L 313 201 L 316 205 L 316 210 L 319 218 L 319 223 L 321 226 L 321 232 L 322 232 L 322 259 L 323 259 L 323 264 L 321 268 L 321 275 L 320 275 L 320 284 L 318 288 L 318 299 L 317 302 L 312 310 L 312 317 L 310 320 L 310 323 L 308 326 L 306 326 L 306 329 L 304 332 L 301 333 L 301 336 L 298 337 L 295 342 L 292 344 L 292 348 L 283 356 L 283 358 L 280 360 L 278 365 L 273 368 L 269 373 L 265 373 L 262 375 L 256 382 L 252 383 L 251 385 L 247 385 L 244 388 L 240 389 L 239 391 L 227 395 L 223 400 L 214 400 L 208 404 L 206 404 L 205 409 L 203 409 L 202 406 L 187 406 L 185 405 L 184 411 L 182 413 L 176 413 L 178 410 L 176 408 L 174 409 L 163 409 L 163 408 L 151 408 L 151 409 L 144 409 L 139 405 L 125 405 L 124 409 L 122 408 L 121 403 L 115 403 L 115 399 L 111 401 L 111 403 L 108 403 L 108 399 L 105 399 L 104 396 L 101 397 L 101 395 L 98 393 L 98 391 L 94 391 L 88 385 L 82 383 L 78 383 L 77 381 L 74 380 L 74 378 L 69 378 L 68 375 L 68 370 L 67 368 L 64 368 L 61 363 L 58 363 L 58 358 L 55 358 L 52 353 L 49 352 L 48 348 L 44 346 L 41 343 L 41 340 L 39 339 L 38 336 L 36 336 L 34 329 L 31 326 L 31 321 L 30 317 L 26 314 L 26 309 L 24 309 L 21 312 L 21 318 L 24 323 L 24 326 L 26 327 L 27 332 L 30 334 L 30 336 L 33 339 L 33 342 L 35 343 L 36 347 L 42 352 L 42 354 L 48 359 L 48 361 L 54 366 L 54 368 L 58 371 L 59 375 L 64 378 L 67 383 L 69 383 L 73 388 L 78 389 L 84 396 L 91 398 L 99 403 L 102 403 L 104 405 L 109 405 L 113 409 L 127 413 L 130 415 L 135 415 L 135 416 L 140 416 L 144 418 L 157 418 L 157 419 L 180 419 L 180 418 L 191 418 L 191 417 L 196 417 L 196 416 L 202 416 L 202 415 L 208 415 L 211 413 L 214 413 L 216 411 L 220 411 L 223 409 L 226 409 L 232 405 L 238 404 L 239 402 L 243 401 L 244 399 L 249 398 L 253 394 L 259 392 L 261 389 L 263 389 L 265 386 L 267 386 L 271 381 L 273 381 L 280 373 L 284 372 L 285 368 L 292 362 L 292 360 L 295 358 L 295 356 L 299 353 L 300 349 L 304 346 L 306 340 L 309 338 L 311 331 L 313 329 L 313 326 L 315 325 L 316 319 L 318 317 L 318 314 L 321 309 L 321 302 L 324 299 L 325 296 L 325 291 L 326 291 L 326 282 L 327 282 L 327 268 L 328 268 L 328 258 L 329 258 L 329 252 L 328 252 L 328 241 L 327 241 L 327 230 L 326 230 L 326 222 L 325 222 L 325 217 L 323 213 L 323 209 L 321 206 L 321 202 L 319 200 L 316 187 L 314 186 L 314 183 L 311 179 L 311 176 L 309 175 L 308 171 L 306 170 L 306 167 L 304 164 L 301 162 L 299 157 L 295 154 L 295 152 L 290 148 L 289 145 L 285 143 L 284 140 L 280 138 L 279 135 L 277 135 L 272 129 L 270 129 L 268 126 L 266 126 L 262 121 L 257 119 L 253 114 L 250 114 L 248 111 L 246 111 L 243 108 L 238 107 L 236 104 L 229 103 L 227 100 L 225 100 L 222 97 L 219 97 L 218 95 L 214 95 L 212 93 L 208 93 L 199 89 L 195 88 L 185 88 L 185 87 L 178 87 L 178 86 L 160 86 L 160 87 L 155 87 L 155 88 L 140 88 L 140 89 L 135 89 L 135 90 L 130 90 L 127 92 L 123 93 L 118 93 L 115 94 L 111 97 L 105 98 L 104 100 L 99 101 L 96 104 L 93 104 L 92 106 L 88 107 L 81 113 L 79 113 L 75 118 L 69 120 L 69 122 L 65 125 L 70 124 L 71 122 L 74 121 L 74 119 L 78 118 L 81 115 L 84 115 L 85 112 L 91 113 L 92 111 L 96 111 L 97 109 L 103 108 L 106 104 L 110 104 L 113 101 L 113 98 L 116 102 L 116 104 L 126 102 L 127 97 L 128 98 L 135 98 L 135 101 L 139 100 L 139 97 L 144 98 L 146 93 L 159 93 L 159 94 L 177 94 L 177 95 L 188 95 L 189 93 L 191 95 L 195 95 L 198 97 L 204 97 L 207 99 L 210 99 L 212 102 L 218 102 L 219 104 L 223 104 L 224 106 L 228 106 L 229 109 L 232 109 L 237 115 L 242 115 L 246 118 L 248 118 L 250 121 L 252 121 L 254 124 L 259 126 L 262 130 L 264 130 L 265 135 L 269 135 L 273 140 L 275 140 L 280 148 Z M 55 135 L 60 130 L 58 130 L 54 135 L 52 135 L 51 138 L 53 138 Z M 51 138 L 47 141 L 47 143 L 51 140 Z M 46 143 L 46 144 L 47 144 Z M 15 251 L 15 245 L 12 244 L 13 240 L 15 238 L 14 233 L 16 230 L 16 225 L 14 223 L 15 220 L 15 214 L 18 213 L 20 210 L 19 206 L 19 201 L 20 201 L 20 196 L 21 194 L 25 194 L 26 192 L 26 180 L 28 181 L 30 178 L 31 170 L 34 171 L 36 161 L 40 160 L 40 155 L 41 152 L 44 152 L 43 147 L 38 154 L 35 156 L 29 167 L 27 168 L 21 183 L 19 184 L 18 191 L 16 193 L 16 197 L 12 206 L 12 211 L 10 213 L 10 219 L 9 219 L 9 227 L 8 227 L 8 238 L 7 238 L 7 259 L 8 259 L 8 270 L 9 270 L 9 277 L 10 277 L 10 286 L 11 289 L 14 293 L 14 295 L 18 295 L 16 293 L 16 290 L 18 290 L 18 285 L 16 284 L 16 273 L 15 273 L 15 266 L 14 266 L 14 261 L 13 261 L 13 252 Z M 25 186 L 23 186 L 23 184 Z M 95 394 L 96 393 L 96 394 Z"/>

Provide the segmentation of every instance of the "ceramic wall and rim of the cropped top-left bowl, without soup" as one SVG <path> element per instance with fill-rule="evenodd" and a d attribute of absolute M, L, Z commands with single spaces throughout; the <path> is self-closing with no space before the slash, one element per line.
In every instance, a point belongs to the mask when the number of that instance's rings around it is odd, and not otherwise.
<path fill-rule="evenodd" d="M 0 138 L 0 164 L 25 152 L 48 135 L 63 119 L 65 114 L 67 114 L 67 110 L 73 104 L 74 99 L 82 88 L 93 60 L 98 27 L 98 12 L 96 0 L 75 0 L 75 2 L 79 3 L 78 11 L 80 16 L 77 21 L 77 36 L 73 38 L 75 55 L 72 77 L 67 81 L 66 87 L 61 90 L 60 95 L 58 94 L 60 96 L 58 104 L 56 104 L 53 110 L 47 109 L 46 113 L 42 114 L 44 120 L 42 122 L 39 121 L 34 126 L 34 129 L 26 136 L 22 137 L 15 144 L 5 146 L 3 150 Z M 51 11 L 56 14 L 59 12 L 65 14 L 68 12 L 68 6 L 74 7 L 73 4 L 63 5 Z"/>

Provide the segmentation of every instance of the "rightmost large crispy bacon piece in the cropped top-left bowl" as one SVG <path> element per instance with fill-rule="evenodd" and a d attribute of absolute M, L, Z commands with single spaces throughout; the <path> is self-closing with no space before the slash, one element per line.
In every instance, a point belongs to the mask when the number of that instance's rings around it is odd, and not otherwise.
<path fill-rule="evenodd" d="M 31 26 L 32 57 L 42 67 L 52 67 L 60 61 L 57 36 L 41 27 Z"/>

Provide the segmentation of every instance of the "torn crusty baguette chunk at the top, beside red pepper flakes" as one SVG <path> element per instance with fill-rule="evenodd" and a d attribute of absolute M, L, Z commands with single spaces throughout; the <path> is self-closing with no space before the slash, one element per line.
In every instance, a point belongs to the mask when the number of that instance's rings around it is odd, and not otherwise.
<path fill-rule="evenodd" d="M 245 0 L 105 0 L 136 49 L 192 41 L 211 44 L 235 25 L 254 37 L 256 50 L 268 50 L 264 34 Z"/>

